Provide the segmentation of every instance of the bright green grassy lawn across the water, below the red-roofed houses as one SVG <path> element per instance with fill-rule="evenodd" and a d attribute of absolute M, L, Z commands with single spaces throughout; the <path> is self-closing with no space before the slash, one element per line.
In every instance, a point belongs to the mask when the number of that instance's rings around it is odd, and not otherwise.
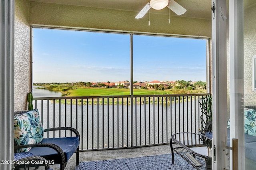
<path fill-rule="evenodd" d="M 105 88 L 83 88 L 68 90 L 68 96 L 112 96 L 112 95 L 130 95 L 130 89 L 105 89 Z M 164 94 L 191 94 L 206 93 L 206 90 L 185 90 L 185 89 L 168 89 L 168 90 L 145 90 L 134 89 L 134 95 L 164 95 Z"/>

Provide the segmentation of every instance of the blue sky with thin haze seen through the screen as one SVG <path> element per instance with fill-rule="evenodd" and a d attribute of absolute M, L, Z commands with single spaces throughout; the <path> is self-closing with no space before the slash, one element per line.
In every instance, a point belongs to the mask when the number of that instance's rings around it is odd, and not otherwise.
<path fill-rule="evenodd" d="M 134 81 L 206 81 L 206 40 L 133 35 Z M 33 29 L 33 81 L 130 81 L 130 35 Z"/>

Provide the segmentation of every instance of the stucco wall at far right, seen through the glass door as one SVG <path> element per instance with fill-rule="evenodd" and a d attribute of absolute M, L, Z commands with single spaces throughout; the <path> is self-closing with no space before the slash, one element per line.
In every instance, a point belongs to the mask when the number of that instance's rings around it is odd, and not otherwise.
<path fill-rule="evenodd" d="M 256 5 L 244 10 L 244 104 L 256 105 L 252 92 L 252 56 L 256 55 Z"/>

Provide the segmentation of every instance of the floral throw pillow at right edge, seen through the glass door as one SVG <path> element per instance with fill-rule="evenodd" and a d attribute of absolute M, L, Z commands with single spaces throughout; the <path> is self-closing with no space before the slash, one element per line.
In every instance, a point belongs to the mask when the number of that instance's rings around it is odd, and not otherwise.
<path fill-rule="evenodd" d="M 256 136 L 256 110 L 244 108 L 244 133 Z"/>

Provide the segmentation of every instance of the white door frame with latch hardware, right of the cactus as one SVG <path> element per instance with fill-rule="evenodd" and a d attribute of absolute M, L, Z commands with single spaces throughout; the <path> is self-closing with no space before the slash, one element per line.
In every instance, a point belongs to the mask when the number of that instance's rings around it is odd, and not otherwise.
<path fill-rule="evenodd" d="M 227 36 L 226 0 L 212 0 L 212 169 L 226 169 Z"/>

